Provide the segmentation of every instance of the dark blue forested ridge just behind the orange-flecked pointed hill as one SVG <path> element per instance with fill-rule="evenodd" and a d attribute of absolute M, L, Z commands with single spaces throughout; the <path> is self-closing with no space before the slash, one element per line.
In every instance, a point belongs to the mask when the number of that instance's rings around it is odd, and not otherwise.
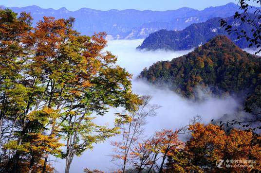
<path fill-rule="evenodd" d="M 224 28 L 220 27 L 221 19 L 221 17 L 216 17 L 203 23 L 194 23 L 182 31 L 160 30 L 154 32 L 150 34 L 137 49 L 188 50 L 205 44 L 217 35 L 226 35 L 240 48 L 248 48 L 249 43 L 245 39 L 238 39 L 238 35 L 233 33 L 228 35 Z M 228 17 L 225 18 L 225 20 L 234 26 L 235 29 L 238 29 L 238 31 L 244 30 L 247 33 L 251 32 L 252 27 L 250 25 L 241 25 L 240 21 L 234 20 L 234 17 Z"/>

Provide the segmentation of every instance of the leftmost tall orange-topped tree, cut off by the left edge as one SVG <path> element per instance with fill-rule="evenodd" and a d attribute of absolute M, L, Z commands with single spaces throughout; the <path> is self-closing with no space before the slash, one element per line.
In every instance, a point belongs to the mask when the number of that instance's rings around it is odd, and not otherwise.
<path fill-rule="evenodd" d="M 21 13 L 20 17 L 9 9 L 0 9 L 0 146 L 4 133 L 10 126 L 3 127 L 7 117 L 16 115 L 19 107 L 13 106 L 8 98 L 8 90 L 16 87 L 21 78 L 23 63 L 30 47 L 24 40 L 31 30 L 32 17 Z M 12 107 L 11 107 L 12 106 Z"/>

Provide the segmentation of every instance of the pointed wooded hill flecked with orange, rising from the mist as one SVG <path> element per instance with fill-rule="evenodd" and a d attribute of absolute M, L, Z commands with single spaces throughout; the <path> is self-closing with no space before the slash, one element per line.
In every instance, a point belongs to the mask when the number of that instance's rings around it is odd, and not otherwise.
<path fill-rule="evenodd" d="M 248 103 L 261 107 L 261 58 L 242 51 L 223 35 L 187 55 L 157 62 L 139 77 L 153 84 L 168 84 L 188 98 L 198 97 L 199 86 L 215 95 L 245 96 L 250 92 Z"/>

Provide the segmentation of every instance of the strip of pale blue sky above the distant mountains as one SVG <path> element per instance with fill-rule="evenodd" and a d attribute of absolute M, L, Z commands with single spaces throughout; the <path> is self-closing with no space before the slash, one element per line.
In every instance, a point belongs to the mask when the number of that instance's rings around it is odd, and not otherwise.
<path fill-rule="evenodd" d="M 209 6 L 224 5 L 238 0 L 0 0 L 0 5 L 7 7 L 24 7 L 37 5 L 42 8 L 58 9 L 66 7 L 71 11 L 80 8 L 93 8 L 97 10 L 110 9 L 138 9 L 138 10 L 175 10 L 181 7 L 190 7 L 202 10 Z"/>

